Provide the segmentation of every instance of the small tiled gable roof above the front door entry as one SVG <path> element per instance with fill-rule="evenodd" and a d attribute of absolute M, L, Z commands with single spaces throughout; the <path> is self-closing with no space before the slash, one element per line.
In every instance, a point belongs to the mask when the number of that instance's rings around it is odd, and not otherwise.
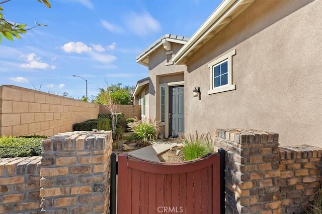
<path fill-rule="evenodd" d="M 142 53 L 140 53 L 135 59 L 137 63 L 140 63 L 144 66 L 149 65 L 149 54 L 155 51 L 159 46 L 163 45 L 167 51 L 171 50 L 171 44 L 179 43 L 179 44 L 186 44 L 188 41 L 188 37 L 173 35 L 173 34 L 166 34 L 159 39 L 157 39 L 154 43 L 152 43 L 147 49 L 145 49 Z"/>

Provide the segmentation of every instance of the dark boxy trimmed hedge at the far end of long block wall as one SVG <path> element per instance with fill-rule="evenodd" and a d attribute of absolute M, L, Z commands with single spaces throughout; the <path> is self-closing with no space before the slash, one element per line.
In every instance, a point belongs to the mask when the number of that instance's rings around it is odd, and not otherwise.
<path fill-rule="evenodd" d="M 72 125 L 73 131 L 92 131 L 93 129 L 110 130 L 110 120 L 107 118 L 90 119 L 81 123 L 74 123 Z"/>

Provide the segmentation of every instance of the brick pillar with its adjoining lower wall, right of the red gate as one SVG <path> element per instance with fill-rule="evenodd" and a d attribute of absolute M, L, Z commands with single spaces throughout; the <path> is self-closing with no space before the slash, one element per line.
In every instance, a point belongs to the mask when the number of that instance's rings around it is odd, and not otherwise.
<path fill-rule="evenodd" d="M 278 134 L 249 129 L 216 129 L 214 140 L 226 150 L 226 213 L 307 208 L 321 178 L 322 148 L 278 147 Z"/>

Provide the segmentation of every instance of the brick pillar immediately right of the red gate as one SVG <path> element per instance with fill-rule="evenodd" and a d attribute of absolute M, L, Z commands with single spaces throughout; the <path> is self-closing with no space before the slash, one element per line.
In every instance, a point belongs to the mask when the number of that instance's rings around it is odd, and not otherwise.
<path fill-rule="evenodd" d="M 226 150 L 226 213 L 280 213 L 278 134 L 215 129 L 214 140 Z"/>

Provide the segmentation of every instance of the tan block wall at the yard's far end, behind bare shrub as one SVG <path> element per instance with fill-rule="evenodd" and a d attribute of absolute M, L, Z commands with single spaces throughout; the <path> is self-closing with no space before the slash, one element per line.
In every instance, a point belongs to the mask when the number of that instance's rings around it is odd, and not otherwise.
<path fill-rule="evenodd" d="M 118 105 L 118 112 L 124 114 L 122 120 L 122 127 L 125 128 L 127 118 L 138 118 L 141 119 L 141 105 Z M 107 105 L 100 105 L 100 113 L 110 113 Z"/>

